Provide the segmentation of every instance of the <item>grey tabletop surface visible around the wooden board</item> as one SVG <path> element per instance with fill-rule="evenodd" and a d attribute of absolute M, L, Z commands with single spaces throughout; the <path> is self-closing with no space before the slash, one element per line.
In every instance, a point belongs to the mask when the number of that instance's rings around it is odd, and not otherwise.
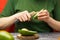
<path fill-rule="evenodd" d="M 11 33 L 15 40 L 19 40 L 16 36 L 18 33 Z M 58 37 L 60 38 L 60 33 L 39 33 L 40 38 L 37 40 L 58 40 Z"/>

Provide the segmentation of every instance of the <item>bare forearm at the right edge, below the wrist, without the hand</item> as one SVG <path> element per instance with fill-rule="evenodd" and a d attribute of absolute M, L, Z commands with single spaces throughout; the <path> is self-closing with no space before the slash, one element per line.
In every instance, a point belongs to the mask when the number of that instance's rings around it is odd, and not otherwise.
<path fill-rule="evenodd" d="M 60 22 L 54 20 L 53 18 L 49 18 L 47 21 L 48 25 L 50 25 L 50 27 L 52 27 L 53 29 L 60 31 Z"/>

